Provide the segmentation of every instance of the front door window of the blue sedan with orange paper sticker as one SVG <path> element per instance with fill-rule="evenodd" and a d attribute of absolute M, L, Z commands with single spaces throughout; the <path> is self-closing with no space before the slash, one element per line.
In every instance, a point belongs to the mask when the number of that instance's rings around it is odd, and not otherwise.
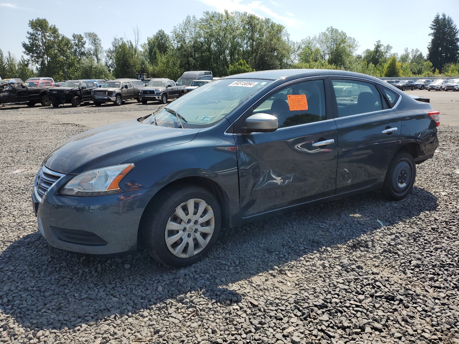
<path fill-rule="evenodd" d="M 252 112 L 278 118 L 279 128 L 325 120 L 323 80 L 295 83 L 270 95 Z"/>

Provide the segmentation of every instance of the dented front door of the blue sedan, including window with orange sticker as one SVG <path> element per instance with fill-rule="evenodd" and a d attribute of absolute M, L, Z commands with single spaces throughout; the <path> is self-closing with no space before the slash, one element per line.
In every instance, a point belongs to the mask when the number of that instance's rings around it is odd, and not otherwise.
<path fill-rule="evenodd" d="M 274 115 L 279 128 L 234 136 L 243 217 L 335 194 L 337 128 L 324 79 L 292 83 L 247 112 L 236 121 L 235 133 L 255 113 Z"/>

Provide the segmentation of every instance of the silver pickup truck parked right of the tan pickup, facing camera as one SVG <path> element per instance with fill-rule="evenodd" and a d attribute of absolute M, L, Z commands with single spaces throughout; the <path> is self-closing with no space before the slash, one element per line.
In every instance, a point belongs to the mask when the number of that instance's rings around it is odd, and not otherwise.
<path fill-rule="evenodd" d="M 174 80 L 154 78 L 140 90 L 139 99 L 142 104 L 146 104 L 149 100 L 159 100 L 162 104 L 166 104 L 168 99 L 182 96 L 184 89 L 185 86 L 178 86 Z"/>

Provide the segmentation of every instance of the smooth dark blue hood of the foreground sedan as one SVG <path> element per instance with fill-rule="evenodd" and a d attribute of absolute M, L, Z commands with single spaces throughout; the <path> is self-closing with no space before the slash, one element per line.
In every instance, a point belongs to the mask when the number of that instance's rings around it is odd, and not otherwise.
<path fill-rule="evenodd" d="M 50 170 L 78 174 L 95 168 L 134 162 L 135 156 L 190 142 L 201 130 L 160 127 L 137 120 L 118 122 L 73 136 L 45 158 Z"/>

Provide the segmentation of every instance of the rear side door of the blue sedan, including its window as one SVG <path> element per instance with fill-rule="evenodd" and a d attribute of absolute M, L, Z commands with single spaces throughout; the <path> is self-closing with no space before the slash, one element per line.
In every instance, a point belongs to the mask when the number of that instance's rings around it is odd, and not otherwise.
<path fill-rule="evenodd" d="M 400 118 L 374 83 L 357 78 L 332 78 L 331 83 L 338 128 L 336 193 L 382 183 L 401 132 Z"/>

